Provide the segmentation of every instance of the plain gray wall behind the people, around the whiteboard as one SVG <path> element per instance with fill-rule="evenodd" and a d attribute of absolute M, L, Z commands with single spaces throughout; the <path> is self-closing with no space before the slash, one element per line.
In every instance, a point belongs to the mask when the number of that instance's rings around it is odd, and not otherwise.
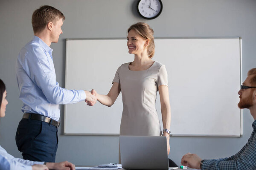
<path fill-rule="evenodd" d="M 15 132 L 22 116 L 20 111 L 22 103 L 18 99 L 15 78 L 15 61 L 20 49 L 32 39 L 32 12 L 41 5 L 54 6 L 66 17 L 64 34 L 60 36 L 57 44 L 51 45 L 54 50 L 57 81 L 62 87 L 64 87 L 66 38 L 126 37 L 128 26 L 138 21 L 147 22 L 154 29 L 154 37 L 242 37 L 243 80 L 247 71 L 255 67 L 256 0 L 162 0 L 162 2 L 163 11 L 160 17 L 144 20 L 136 12 L 137 0 L 0 0 L 0 78 L 6 83 L 9 100 L 6 117 L 1 119 L 0 125 L 2 147 L 13 156 L 21 157 L 15 144 Z M 88 75 L 84 78 L 93 81 L 93 77 Z M 223 82 L 218 82 L 216 85 L 221 83 Z M 61 106 L 61 119 L 64 117 L 63 108 Z M 247 142 L 252 132 L 252 122 L 250 112 L 244 110 L 244 135 L 241 138 L 171 137 L 169 157 L 180 164 L 181 157 L 187 152 L 198 153 L 204 159 L 231 156 Z M 118 161 L 116 136 L 62 134 L 63 124 L 59 128 L 56 161 L 69 160 L 77 165 Z"/>

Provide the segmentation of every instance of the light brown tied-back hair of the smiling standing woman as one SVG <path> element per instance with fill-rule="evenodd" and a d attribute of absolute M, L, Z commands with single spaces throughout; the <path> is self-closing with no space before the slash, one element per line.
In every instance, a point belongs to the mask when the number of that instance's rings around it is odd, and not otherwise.
<path fill-rule="evenodd" d="M 137 32 L 137 34 L 139 34 L 141 37 L 148 39 L 149 40 L 149 44 L 148 44 L 148 58 L 152 58 L 154 56 L 154 31 L 152 28 L 150 28 L 150 26 L 147 23 L 143 23 L 143 22 L 139 22 L 136 24 L 131 25 L 128 30 L 127 33 L 129 33 L 129 31 L 134 30 Z"/>

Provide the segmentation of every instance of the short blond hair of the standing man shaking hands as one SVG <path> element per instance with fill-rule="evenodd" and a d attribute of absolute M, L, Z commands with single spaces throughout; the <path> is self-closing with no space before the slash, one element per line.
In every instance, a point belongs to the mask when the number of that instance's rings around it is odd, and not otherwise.
<path fill-rule="evenodd" d="M 34 33 L 42 31 L 49 23 L 55 23 L 59 19 L 65 20 L 64 15 L 58 9 L 52 6 L 41 6 L 32 14 L 32 27 Z"/>

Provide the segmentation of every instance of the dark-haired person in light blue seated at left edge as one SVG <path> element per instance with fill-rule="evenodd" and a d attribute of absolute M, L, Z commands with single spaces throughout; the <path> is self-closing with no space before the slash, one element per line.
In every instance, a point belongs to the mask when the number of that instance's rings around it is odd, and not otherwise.
<path fill-rule="evenodd" d="M 6 105 L 8 101 L 6 99 L 6 87 L 3 81 L 0 79 L 0 117 L 6 115 Z M 3 147 L 0 146 L 0 170 L 75 170 L 75 165 L 68 162 L 50 163 L 50 162 L 38 162 L 29 161 L 20 158 L 15 158 L 6 152 Z"/>

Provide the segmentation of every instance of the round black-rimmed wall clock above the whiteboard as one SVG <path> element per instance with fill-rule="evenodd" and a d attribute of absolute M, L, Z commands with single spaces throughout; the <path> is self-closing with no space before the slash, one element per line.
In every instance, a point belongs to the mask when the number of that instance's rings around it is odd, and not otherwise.
<path fill-rule="evenodd" d="M 161 0 L 140 0 L 137 4 L 137 11 L 145 19 L 158 17 L 163 9 Z"/>

